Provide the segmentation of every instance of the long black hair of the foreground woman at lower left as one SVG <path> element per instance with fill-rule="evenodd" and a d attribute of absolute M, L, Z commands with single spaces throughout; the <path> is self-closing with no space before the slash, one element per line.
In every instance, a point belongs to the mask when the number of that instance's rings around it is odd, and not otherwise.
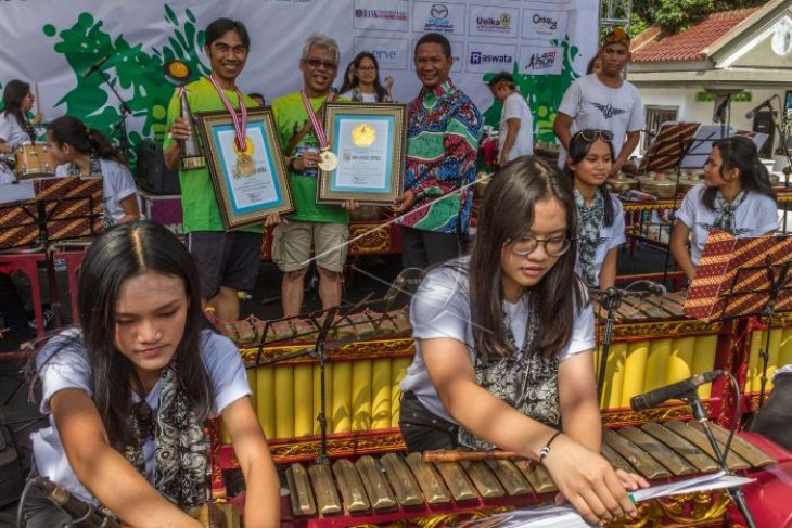
<path fill-rule="evenodd" d="M 128 418 L 132 412 L 132 384 L 140 384 L 140 379 L 132 363 L 115 347 L 115 309 L 124 282 L 148 271 L 183 282 L 188 307 L 184 333 L 173 358 L 178 365 L 177 383 L 203 420 L 214 400 L 200 350 L 201 331 L 208 323 L 201 310 L 199 275 L 192 257 L 176 236 L 157 223 L 143 220 L 115 226 L 100 234 L 86 252 L 77 299 L 81 335 L 61 340 L 61 348 L 85 347 L 92 374 L 92 398 L 110 443 L 116 449 L 135 441 Z M 38 376 L 35 361 L 34 357 L 28 364 L 31 387 Z"/>

